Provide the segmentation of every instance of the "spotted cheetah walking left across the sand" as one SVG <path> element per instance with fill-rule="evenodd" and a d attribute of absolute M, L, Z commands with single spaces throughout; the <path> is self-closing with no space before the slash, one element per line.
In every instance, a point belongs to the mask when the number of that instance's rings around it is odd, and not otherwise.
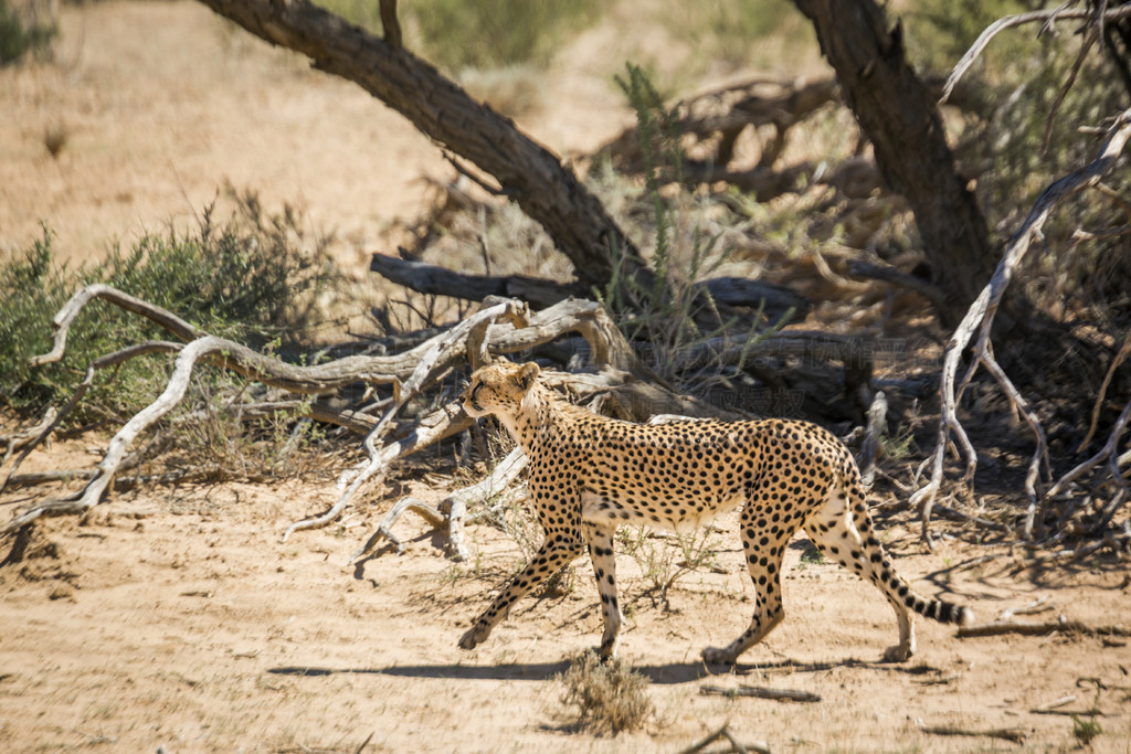
<path fill-rule="evenodd" d="M 463 395 L 468 415 L 497 416 L 529 458 L 529 496 L 545 538 L 460 638 L 461 648 L 483 643 L 516 600 L 588 547 L 604 618 L 598 653 L 614 657 L 622 622 L 616 528 L 687 531 L 739 505 L 754 616 L 728 645 L 702 651 L 709 664 L 734 664 L 782 622 L 782 558 L 802 528 L 824 555 L 879 587 L 895 608 L 899 643 L 886 660 L 915 652 L 914 613 L 973 622 L 969 608 L 922 597 L 895 572 L 872 528 L 856 462 L 827 430 L 791 419 L 633 424 L 573 406 L 541 384 L 538 373 L 533 362 L 497 362 L 472 374 Z"/>

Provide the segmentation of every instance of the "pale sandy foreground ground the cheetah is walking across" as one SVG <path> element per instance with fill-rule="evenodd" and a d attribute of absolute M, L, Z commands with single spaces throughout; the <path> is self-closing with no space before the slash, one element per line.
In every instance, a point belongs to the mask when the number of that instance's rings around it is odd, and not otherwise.
<path fill-rule="evenodd" d="M 800 545 L 784 570 L 786 621 L 713 676 L 699 651 L 729 641 L 752 607 L 734 521 L 716 538 L 723 573 L 683 577 L 666 608 L 646 593 L 638 562 L 619 558 L 630 616 L 621 651 L 650 679 L 656 713 L 615 738 L 571 733 L 555 676 L 599 633 L 590 566 L 578 562 L 570 593 L 525 600 L 465 652 L 457 639 L 521 562 L 513 540 L 473 527 L 476 558 L 457 565 L 442 538 L 405 519 L 404 555 L 386 549 L 349 566 L 388 503 L 378 499 L 342 526 L 282 544 L 330 486 L 157 489 L 104 504 L 86 526 L 43 526 L 21 562 L 0 567 L 0 749 L 352 752 L 372 734 L 368 751 L 679 751 L 728 722 L 776 752 L 1071 751 L 1070 717 L 1030 711 L 1065 696 L 1074 700 L 1064 710 L 1106 714 L 1093 749 L 1131 747 L 1125 640 L 960 640 L 921 621 L 916 657 L 883 664 L 896 626 L 882 597 L 835 564 L 802 562 Z M 1128 617 L 1123 572 L 1011 574 L 1000 549 L 950 544 L 926 555 L 909 522 L 884 528 L 918 589 L 983 618 L 1039 598 L 1045 612 L 1030 619 Z M 986 554 L 996 557 L 975 562 Z M 700 692 L 742 683 L 821 701 Z M 1028 737 L 939 737 L 923 725 Z"/>

